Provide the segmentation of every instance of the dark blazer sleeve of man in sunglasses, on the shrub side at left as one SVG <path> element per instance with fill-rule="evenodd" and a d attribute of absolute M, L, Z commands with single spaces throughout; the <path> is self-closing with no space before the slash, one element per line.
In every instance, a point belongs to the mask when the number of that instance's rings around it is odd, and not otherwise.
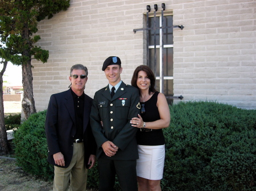
<path fill-rule="evenodd" d="M 47 114 L 46 114 L 46 124 L 44 126 L 46 130 L 48 152 L 50 155 L 60 152 L 60 147 L 59 147 L 58 137 L 57 137 L 57 121 L 58 121 L 58 106 L 56 102 L 56 97 L 52 95 L 49 100 Z"/>

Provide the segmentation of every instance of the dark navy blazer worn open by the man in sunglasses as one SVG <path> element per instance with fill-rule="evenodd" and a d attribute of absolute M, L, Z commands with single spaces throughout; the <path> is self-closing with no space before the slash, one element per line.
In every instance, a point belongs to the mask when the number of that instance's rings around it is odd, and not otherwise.
<path fill-rule="evenodd" d="M 83 139 L 86 168 L 88 168 L 89 156 L 96 154 L 96 142 L 89 120 L 91 106 L 92 98 L 85 94 Z M 53 154 L 61 152 L 65 160 L 63 168 L 67 168 L 71 163 L 73 139 L 76 134 L 76 116 L 71 89 L 51 95 L 46 114 L 45 130 L 48 144 L 48 162 L 61 167 L 55 164 L 53 159 Z"/>

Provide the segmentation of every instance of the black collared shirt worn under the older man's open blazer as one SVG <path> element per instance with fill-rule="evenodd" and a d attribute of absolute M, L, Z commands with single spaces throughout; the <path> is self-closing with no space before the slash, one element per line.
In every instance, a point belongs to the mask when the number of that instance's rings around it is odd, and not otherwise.
<path fill-rule="evenodd" d="M 74 105 L 75 105 L 75 113 L 76 113 L 76 134 L 74 139 L 82 139 L 83 134 L 83 122 L 84 122 L 84 94 L 81 96 L 77 96 L 75 92 L 72 91 Z"/>

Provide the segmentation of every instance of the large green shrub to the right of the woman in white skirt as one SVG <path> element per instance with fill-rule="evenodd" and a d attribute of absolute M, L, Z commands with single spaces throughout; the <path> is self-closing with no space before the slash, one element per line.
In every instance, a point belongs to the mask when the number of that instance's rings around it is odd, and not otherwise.
<path fill-rule="evenodd" d="M 213 102 L 170 107 L 163 190 L 255 190 L 256 111 Z"/>

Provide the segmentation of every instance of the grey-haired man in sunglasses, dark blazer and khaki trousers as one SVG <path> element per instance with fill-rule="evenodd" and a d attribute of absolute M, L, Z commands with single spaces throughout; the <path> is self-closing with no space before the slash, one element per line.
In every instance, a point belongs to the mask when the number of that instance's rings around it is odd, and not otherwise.
<path fill-rule="evenodd" d="M 86 168 L 92 168 L 96 160 L 89 121 L 92 98 L 84 94 L 87 75 L 85 66 L 73 65 L 71 88 L 49 100 L 45 129 L 48 162 L 54 165 L 53 190 L 86 190 Z"/>

